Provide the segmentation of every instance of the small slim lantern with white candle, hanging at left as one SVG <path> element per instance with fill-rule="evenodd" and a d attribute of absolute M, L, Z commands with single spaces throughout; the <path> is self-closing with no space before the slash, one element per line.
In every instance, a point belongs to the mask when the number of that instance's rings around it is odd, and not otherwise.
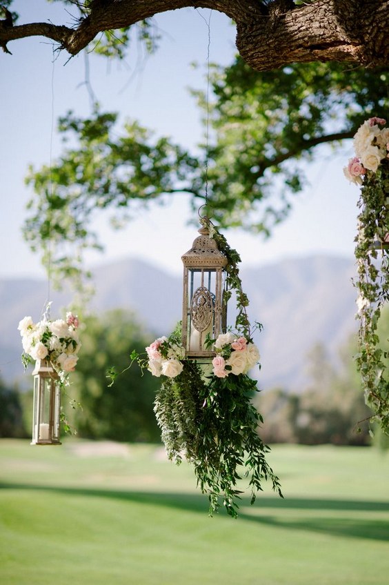
<path fill-rule="evenodd" d="M 37 359 L 34 371 L 32 445 L 60 445 L 61 388 L 58 374 L 46 359 Z"/>

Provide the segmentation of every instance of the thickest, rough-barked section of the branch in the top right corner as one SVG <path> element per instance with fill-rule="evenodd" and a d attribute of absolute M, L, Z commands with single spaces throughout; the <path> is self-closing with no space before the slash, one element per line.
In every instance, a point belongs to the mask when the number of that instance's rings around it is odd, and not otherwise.
<path fill-rule="evenodd" d="M 237 23 L 237 48 L 253 69 L 308 61 L 388 65 L 389 2 L 317 0 L 294 10 L 277 5 L 266 18 Z"/>

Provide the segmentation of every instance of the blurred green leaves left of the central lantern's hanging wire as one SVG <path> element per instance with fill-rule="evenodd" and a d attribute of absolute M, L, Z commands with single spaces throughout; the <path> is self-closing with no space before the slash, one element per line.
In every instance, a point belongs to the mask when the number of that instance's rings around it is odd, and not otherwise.
<path fill-rule="evenodd" d="M 43 250 L 43 263 L 51 257 L 52 276 L 77 277 L 82 271 L 83 250 L 100 248 L 89 228 L 96 210 L 113 210 L 112 226 L 118 228 L 126 211 L 135 215 L 162 193 L 179 190 L 197 168 L 197 161 L 166 137 L 137 122 L 127 122 L 117 136 L 117 115 L 95 110 L 88 119 L 68 112 L 59 119 L 65 146 L 61 158 L 38 172 L 30 168 L 27 184 L 34 184 L 24 236 L 32 250 Z"/>

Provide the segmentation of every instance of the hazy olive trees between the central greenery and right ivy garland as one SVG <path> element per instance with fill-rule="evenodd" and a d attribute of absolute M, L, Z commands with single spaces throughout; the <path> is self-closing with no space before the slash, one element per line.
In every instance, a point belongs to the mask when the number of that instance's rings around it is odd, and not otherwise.
<path fill-rule="evenodd" d="M 256 406 L 264 418 L 263 439 L 306 445 L 370 444 L 372 413 L 365 404 L 352 359 L 356 352 L 357 340 L 352 335 L 339 350 L 339 366 L 334 366 L 318 344 L 307 355 L 306 388 L 300 393 L 276 388 L 260 394 Z"/>

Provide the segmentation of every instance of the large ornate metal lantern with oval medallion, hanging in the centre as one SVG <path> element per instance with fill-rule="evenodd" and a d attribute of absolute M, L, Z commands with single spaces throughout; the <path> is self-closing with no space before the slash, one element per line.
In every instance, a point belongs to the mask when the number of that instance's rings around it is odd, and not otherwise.
<path fill-rule="evenodd" d="M 210 359 L 215 352 L 206 348 L 209 334 L 216 339 L 226 333 L 227 306 L 224 301 L 227 258 L 217 248 L 208 228 L 201 228 L 183 261 L 182 344 L 186 356 Z"/>

